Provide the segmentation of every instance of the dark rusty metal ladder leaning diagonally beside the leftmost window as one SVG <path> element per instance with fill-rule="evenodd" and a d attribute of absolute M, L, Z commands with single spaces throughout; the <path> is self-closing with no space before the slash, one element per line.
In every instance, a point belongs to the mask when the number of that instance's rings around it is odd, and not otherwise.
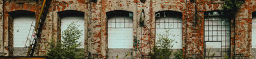
<path fill-rule="evenodd" d="M 51 3 L 51 0 L 43 1 L 42 8 L 40 10 L 40 15 L 38 15 L 38 18 L 36 20 L 35 37 L 33 39 L 33 43 L 29 44 L 27 56 L 33 56 L 36 49 L 36 45 L 38 44 L 38 41 L 41 39 L 40 37 L 41 37 L 42 27 L 44 26 L 45 18 L 47 16 L 50 3 Z"/>

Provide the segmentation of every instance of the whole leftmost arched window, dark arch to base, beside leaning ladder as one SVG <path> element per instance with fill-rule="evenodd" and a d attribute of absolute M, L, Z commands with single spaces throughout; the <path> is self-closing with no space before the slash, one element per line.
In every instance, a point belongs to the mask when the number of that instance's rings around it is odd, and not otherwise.
<path fill-rule="evenodd" d="M 26 56 L 24 53 L 28 49 L 25 46 L 29 46 L 29 40 L 34 39 L 32 34 L 35 29 L 35 13 L 19 10 L 10 12 L 10 16 L 9 33 L 13 35 L 13 56 Z"/>

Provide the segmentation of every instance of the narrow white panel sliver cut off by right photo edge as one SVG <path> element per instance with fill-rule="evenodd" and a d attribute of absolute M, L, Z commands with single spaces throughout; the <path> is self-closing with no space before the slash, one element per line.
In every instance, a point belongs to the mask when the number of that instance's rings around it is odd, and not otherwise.
<path fill-rule="evenodd" d="M 256 48 L 256 15 L 252 18 L 252 48 Z"/>

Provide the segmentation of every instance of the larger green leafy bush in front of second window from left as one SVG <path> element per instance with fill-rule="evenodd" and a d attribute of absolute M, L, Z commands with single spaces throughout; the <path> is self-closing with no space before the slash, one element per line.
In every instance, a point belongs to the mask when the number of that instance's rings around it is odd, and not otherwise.
<path fill-rule="evenodd" d="M 83 49 L 78 49 L 77 47 L 81 45 L 77 39 L 83 34 L 83 30 L 78 29 L 79 25 L 74 22 L 68 25 L 67 30 L 64 30 L 61 34 L 63 40 L 58 39 L 54 41 L 51 40 L 49 43 L 49 53 L 47 56 L 52 59 L 77 59 L 83 58 Z"/>

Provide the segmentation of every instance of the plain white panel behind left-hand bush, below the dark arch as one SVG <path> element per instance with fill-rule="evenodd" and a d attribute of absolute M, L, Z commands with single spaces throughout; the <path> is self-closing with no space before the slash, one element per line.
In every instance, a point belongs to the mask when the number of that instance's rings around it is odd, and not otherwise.
<path fill-rule="evenodd" d="M 83 32 L 81 32 L 83 35 L 77 41 L 79 43 L 81 42 L 81 46 L 79 46 L 79 48 L 84 48 L 84 16 L 65 16 L 61 18 L 61 33 L 66 30 L 68 25 L 72 22 L 79 25 L 79 30 L 83 30 Z M 61 40 L 63 40 L 62 37 Z"/>

